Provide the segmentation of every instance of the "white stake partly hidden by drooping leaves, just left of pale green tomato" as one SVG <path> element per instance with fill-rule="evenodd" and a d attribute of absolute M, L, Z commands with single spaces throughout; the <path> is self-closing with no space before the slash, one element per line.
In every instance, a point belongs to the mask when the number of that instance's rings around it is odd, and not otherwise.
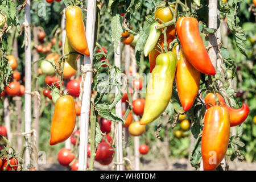
<path fill-rule="evenodd" d="M 117 52 L 115 53 L 115 66 L 121 67 L 121 48 L 120 41 L 118 43 Z M 115 96 L 118 94 L 118 88 L 115 87 Z M 122 101 L 120 100 L 115 105 L 115 114 L 117 116 L 122 117 Z M 121 122 L 117 122 L 117 171 L 123 171 L 123 124 Z"/>

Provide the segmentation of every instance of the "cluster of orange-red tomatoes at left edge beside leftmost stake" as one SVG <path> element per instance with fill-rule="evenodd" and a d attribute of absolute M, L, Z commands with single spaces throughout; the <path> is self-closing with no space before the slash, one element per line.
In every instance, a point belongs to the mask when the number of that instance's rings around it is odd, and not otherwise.
<path fill-rule="evenodd" d="M 3 92 L 1 93 L 1 97 L 6 96 L 6 94 L 8 96 L 11 97 L 22 97 L 25 93 L 25 87 L 24 85 L 20 84 L 20 73 L 18 71 L 16 71 L 16 69 L 18 68 L 18 62 L 15 56 L 13 55 L 8 55 L 6 56 L 6 58 L 8 59 L 8 63 L 11 65 L 11 69 L 13 69 L 13 76 L 12 76 L 12 80 L 9 83 L 9 86 L 5 86 L 5 89 L 3 90 Z M 24 81 L 25 77 L 23 77 L 23 81 Z"/>

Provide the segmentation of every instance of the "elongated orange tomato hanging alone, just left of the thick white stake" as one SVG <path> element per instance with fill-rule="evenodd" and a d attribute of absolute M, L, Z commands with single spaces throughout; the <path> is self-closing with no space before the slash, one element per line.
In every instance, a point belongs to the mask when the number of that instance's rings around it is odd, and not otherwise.
<path fill-rule="evenodd" d="M 55 103 L 51 124 L 50 145 L 67 140 L 76 125 L 75 102 L 71 96 L 61 96 Z"/>

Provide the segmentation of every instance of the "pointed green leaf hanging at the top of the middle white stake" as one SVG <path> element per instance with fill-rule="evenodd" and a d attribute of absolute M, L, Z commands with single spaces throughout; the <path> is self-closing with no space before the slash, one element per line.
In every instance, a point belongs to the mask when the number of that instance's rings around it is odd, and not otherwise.
<path fill-rule="evenodd" d="M 114 42 L 114 49 L 116 52 L 123 31 L 122 22 L 119 14 L 115 14 L 115 16 L 113 16 L 110 27 L 112 30 L 111 38 L 112 42 Z"/>

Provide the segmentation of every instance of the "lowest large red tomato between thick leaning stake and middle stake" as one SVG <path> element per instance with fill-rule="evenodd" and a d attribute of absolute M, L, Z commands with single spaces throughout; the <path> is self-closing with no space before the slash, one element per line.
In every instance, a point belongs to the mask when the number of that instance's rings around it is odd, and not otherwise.
<path fill-rule="evenodd" d="M 108 165 L 112 162 L 113 154 L 114 150 L 112 146 L 110 146 L 107 142 L 100 142 L 98 144 L 95 160 L 104 165 Z"/>

